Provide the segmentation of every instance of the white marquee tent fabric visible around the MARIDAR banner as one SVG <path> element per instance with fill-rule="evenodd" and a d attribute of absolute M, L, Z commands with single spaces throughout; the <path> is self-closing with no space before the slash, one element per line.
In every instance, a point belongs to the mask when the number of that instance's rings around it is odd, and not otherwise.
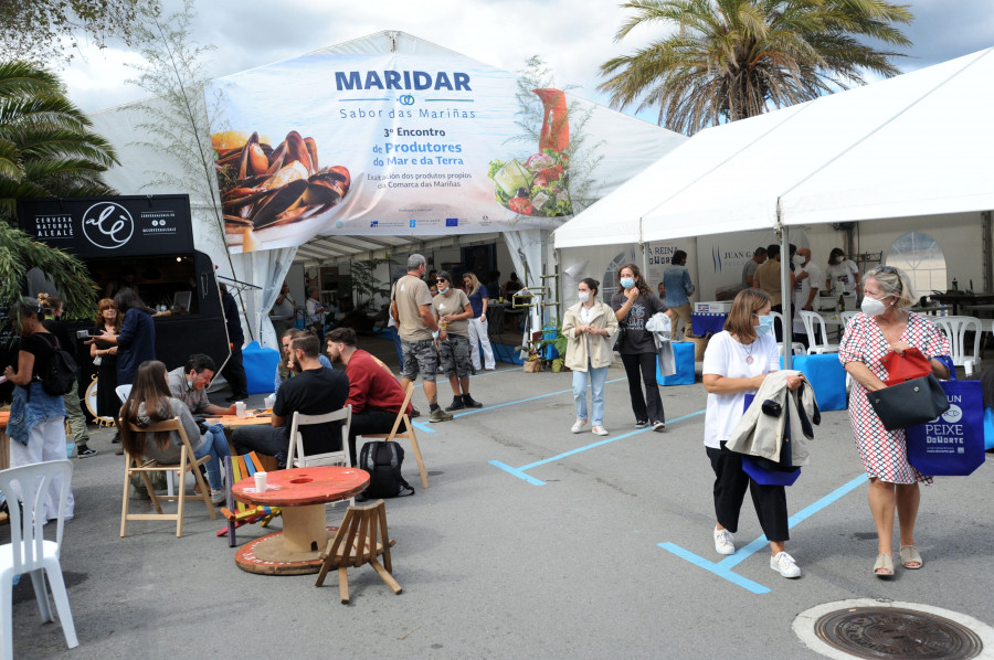
<path fill-rule="evenodd" d="M 468 61 L 468 57 L 454 51 L 438 46 L 399 31 L 382 31 L 369 36 L 356 39 L 342 44 L 322 49 L 318 53 L 342 55 L 401 53 L 414 56 L 438 56 L 453 61 Z M 264 68 L 264 67 L 263 67 Z M 654 162 L 660 156 L 684 142 L 687 138 L 679 134 L 662 129 L 634 117 L 628 117 L 598 106 L 590 102 L 570 97 L 588 114 L 585 130 L 591 136 L 591 143 L 598 143 L 601 161 L 596 166 L 595 182 L 592 187 L 595 195 L 609 194 L 623 181 Z M 149 120 L 146 107 L 161 104 L 158 98 L 94 113 L 91 118 L 95 129 L 105 135 L 115 146 L 121 161 L 120 167 L 113 168 L 106 175 L 107 182 L 123 194 L 177 192 L 175 185 L 161 183 L 167 172 L 173 179 L 183 178 L 183 169 L 179 162 L 163 156 L 160 149 L 150 143 L 156 138 L 142 129 L 142 123 Z M 207 124 L 207 116 L 202 119 Z M 180 191 L 189 192 L 189 191 Z M 216 195 L 216 189 L 213 194 Z M 198 249 L 209 254 L 219 266 L 220 274 L 236 279 L 255 283 L 262 290 L 255 295 L 243 297 L 243 312 L 250 321 L 250 333 L 263 337 L 272 343 L 274 336 L 266 320 L 267 310 L 277 296 L 279 285 L 284 281 L 293 262 L 308 265 L 335 263 L 349 257 L 367 258 L 384 251 L 391 254 L 403 254 L 416 251 L 426 245 L 458 241 L 457 234 L 448 236 L 417 237 L 381 233 L 377 237 L 364 235 L 342 235 L 334 237 L 315 236 L 299 247 L 261 251 L 252 254 L 229 255 L 218 221 L 214 205 L 203 195 L 191 193 L 191 207 L 194 217 L 194 242 Z M 508 243 L 511 259 L 518 272 L 522 272 L 521 260 L 542 262 L 542 247 L 548 236 L 546 231 L 525 230 L 493 234 L 491 238 L 504 236 Z M 486 235 L 476 235 L 483 239 Z M 532 270 L 535 270 L 532 268 Z M 538 275 L 536 272 L 535 275 Z M 535 283 L 532 283 L 535 284 Z"/>

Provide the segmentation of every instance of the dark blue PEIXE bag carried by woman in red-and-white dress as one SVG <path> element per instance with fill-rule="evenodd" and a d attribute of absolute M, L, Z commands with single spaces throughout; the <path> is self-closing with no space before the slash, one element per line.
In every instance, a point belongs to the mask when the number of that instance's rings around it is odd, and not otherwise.
<path fill-rule="evenodd" d="M 965 477 L 984 462 L 984 398 L 980 381 L 940 383 L 950 408 L 907 429 L 908 461 L 922 475 Z"/>

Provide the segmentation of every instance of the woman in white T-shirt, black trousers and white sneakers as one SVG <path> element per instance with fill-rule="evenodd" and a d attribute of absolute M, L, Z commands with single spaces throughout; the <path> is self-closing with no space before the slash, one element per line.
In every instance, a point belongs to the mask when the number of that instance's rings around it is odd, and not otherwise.
<path fill-rule="evenodd" d="M 783 486 L 763 486 L 742 469 L 742 455 L 726 448 L 732 429 L 745 414 L 745 395 L 754 394 L 763 379 L 780 370 L 780 354 L 773 337 L 770 297 L 759 289 L 745 289 L 736 296 L 725 321 L 725 330 L 708 342 L 704 360 L 704 385 L 708 391 L 705 415 L 705 449 L 715 470 L 715 550 L 734 554 L 732 534 L 739 528 L 739 512 L 745 489 L 766 539 L 770 540 L 770 567 L 784 577 L 797 577 L 801 568 L 784 552 L 790 537 L 786 493 Z M 803 376 L 789 376 L 787 386 L 796 390 Z"/>

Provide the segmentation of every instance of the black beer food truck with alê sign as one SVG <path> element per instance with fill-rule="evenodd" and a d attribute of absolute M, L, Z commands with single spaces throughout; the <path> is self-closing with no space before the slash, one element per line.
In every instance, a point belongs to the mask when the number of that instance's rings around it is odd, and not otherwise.
<path fill-rule="evenodd" d="M 214 265 L 193 247 L 188 195 L 23 200 L 18 222 L 39 242 L 83 260 L 99 298 L 113 298 L 121 287 L 135 289 L 155 312 L 156 356 L 167 369 L 182 366 L 192 353 L 207 353 L 220 371 L 230 358 Z M 68 311 L 85 316 L 85 310 Z M 66 324 L 73 336 L 93 328 L 96 309 L 88 320 Z M 89 348 L 83 339 L 77 342 L 81 395 L 93 400 Z"/>

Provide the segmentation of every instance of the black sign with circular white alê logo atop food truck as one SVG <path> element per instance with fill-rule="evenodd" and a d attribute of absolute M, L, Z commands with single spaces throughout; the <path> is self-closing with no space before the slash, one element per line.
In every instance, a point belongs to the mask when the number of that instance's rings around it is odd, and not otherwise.
<path fill-rule="evenodd" d="M 187 195 L 24 200 L 20 227 L 81 258 L 120 258 L 193 252 Z"/>

